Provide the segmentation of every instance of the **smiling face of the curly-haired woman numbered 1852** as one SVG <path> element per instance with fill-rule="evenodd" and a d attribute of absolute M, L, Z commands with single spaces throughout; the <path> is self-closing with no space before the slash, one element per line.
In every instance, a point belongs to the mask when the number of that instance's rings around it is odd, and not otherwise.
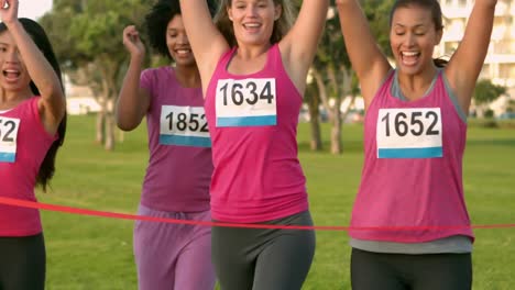
<path fill-rule="evenodd" d="M 166 27 L 166 45 L 168 46 L 169 55 L 178 66 L 193 66 L 196 64 L 180 15 L 175 15 L 168 22 Z"/>

